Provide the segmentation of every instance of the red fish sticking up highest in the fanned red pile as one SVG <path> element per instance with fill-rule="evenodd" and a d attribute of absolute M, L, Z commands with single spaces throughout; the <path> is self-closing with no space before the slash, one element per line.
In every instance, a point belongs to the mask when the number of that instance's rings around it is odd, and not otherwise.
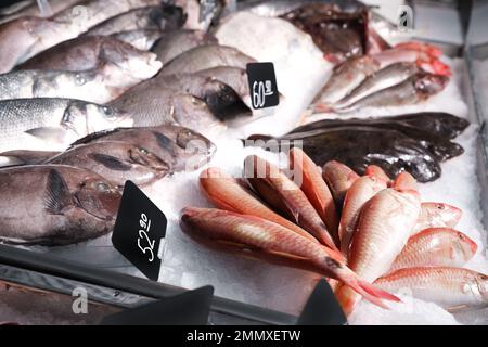
<path fill-rule="evenodd" d="M 298 147 L 290 151 L 290 166 L 301 175 L 301 191 L 308 197 L 329 233 L 337 235 L 338 216 L 331 190 L 322 178 L 317 165 Z"/>

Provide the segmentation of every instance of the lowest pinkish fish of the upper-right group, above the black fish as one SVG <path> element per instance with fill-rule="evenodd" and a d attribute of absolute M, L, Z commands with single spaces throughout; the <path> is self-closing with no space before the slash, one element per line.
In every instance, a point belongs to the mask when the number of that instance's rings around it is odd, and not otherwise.
<path fill-rule="evenodd" d="M 441 92 L 448 81 L 449 78 L 442 75 L 418 73 L 398 85 L 376 91 L 344 107 L 334 106 L 333 111 L 337 113 L 347 113 L 365 107 L 389 107 L 418 104 Z M 322 107 L 323 105 L 317 105 L 317 110 L 322 110 Z"/>

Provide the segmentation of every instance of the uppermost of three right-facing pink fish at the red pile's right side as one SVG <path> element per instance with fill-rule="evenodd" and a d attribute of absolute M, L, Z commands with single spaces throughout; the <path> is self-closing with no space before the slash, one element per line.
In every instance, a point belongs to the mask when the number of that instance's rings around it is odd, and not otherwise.
<path fill-rule="evenodd" d="M 412 235 L 429 228 L 454 228 L 463 211 L 445 203 L 422 203 L 421 215 L 412 230 Z"/>

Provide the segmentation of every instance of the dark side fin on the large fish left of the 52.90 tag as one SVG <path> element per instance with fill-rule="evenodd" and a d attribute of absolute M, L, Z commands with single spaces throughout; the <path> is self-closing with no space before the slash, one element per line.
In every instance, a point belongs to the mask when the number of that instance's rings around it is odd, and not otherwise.
<path fill-rule="evenodd" d="M 63 208 L 72 204 L 66 181 L 55 169 L 51 169 L 46 184 L 44 207 L 51 215 L 62 215 Z"/>

